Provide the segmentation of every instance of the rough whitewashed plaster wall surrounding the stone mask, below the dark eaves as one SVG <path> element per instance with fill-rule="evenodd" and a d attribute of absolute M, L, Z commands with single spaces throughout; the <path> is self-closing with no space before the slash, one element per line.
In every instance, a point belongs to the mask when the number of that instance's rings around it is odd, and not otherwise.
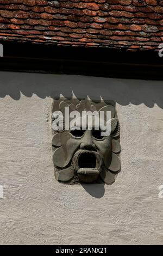
<path fill-rule="evenodd" d="M 54 178 L 51 96 L 117 102 L 122 171 L 108 185 Z M 0 243 L 163 243 L 163 82 L 0 72 Z"/>

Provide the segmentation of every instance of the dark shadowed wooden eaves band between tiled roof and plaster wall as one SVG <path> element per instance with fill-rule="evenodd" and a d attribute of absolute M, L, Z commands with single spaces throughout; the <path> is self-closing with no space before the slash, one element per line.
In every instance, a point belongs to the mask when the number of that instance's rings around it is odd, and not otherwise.
<path fill-rule="evenodd" d="M 0 43 L 0 70 L 163 80 L 163 57 L 154 51 Z"/>

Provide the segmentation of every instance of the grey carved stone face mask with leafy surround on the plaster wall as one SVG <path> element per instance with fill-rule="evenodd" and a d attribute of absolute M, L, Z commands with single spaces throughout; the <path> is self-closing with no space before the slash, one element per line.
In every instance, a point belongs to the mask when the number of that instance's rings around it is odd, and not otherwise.
<path fill-rule="evenodd" d="M 66 106 L 69 107 L 70 112 L 75 110 L 79 113 L 110 111 L 111 134 L 102 137 L 101 131 L 95 129 L 85 131 L 54 131 L 52 129 L 55 178 L 70 184 L 78 182 L 112 184 L 121 169 L 120 125 L 114 101 L 93 102 L 89 98 L 78 100 L 74 95 L 72 99 L 60 97 L 54 100 L 52 113 L 61 111 L 64 114 Z"/>

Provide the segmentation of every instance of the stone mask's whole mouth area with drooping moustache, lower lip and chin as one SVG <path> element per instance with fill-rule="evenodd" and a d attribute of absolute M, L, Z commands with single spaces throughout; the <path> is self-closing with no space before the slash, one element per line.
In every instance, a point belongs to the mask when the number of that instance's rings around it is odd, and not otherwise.
<path fill-rule="evenodd" d="M 73 155 L 71 169 L 76 181 L 93 182 L 102 171 L 103 160 L 97 151 L 79 149 Z"/>

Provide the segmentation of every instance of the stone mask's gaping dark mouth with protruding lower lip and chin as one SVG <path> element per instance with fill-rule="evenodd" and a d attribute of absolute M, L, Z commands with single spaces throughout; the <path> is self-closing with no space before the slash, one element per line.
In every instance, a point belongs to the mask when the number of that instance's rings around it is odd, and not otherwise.
<path fill-rule="evenodd" d="M 83 153 L 78 160 L 78 177 L 82 182 L 93 182 L 98 179 L 99 170 L 96 168 L 97 158 L 94 153 Z"/>

